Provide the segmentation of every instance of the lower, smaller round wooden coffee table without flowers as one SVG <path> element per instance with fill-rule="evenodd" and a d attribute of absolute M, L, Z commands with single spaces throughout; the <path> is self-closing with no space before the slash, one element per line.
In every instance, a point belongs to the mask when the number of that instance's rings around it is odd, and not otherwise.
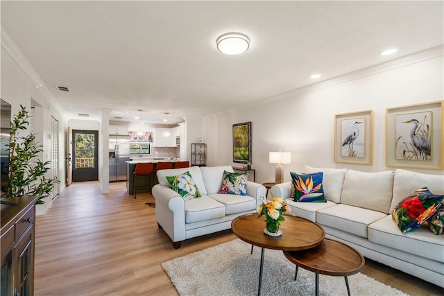
<path fill-rule="evenodd" d="M 345 277 L 345 285 L 350 296 L 347 276 L 358 273 L 365 263 L 364 256 L 357 250 L 328 238 L 309 250 L 284 251 L 284 255 L 289 261 L 296 264 L 295 281 L 298 277 L 299 266 L 316 273 L 316 296 L 319 295 L 319 274 Z"/>

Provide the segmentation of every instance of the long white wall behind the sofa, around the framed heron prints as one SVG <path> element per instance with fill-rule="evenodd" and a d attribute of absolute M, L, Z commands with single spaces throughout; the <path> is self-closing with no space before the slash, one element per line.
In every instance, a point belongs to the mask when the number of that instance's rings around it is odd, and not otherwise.
<path fill-rule="evenodd" d="M 352 168 L 357 171 L 394 171 L 385 165 L 387 107 L 443 100 L 443 46 L 348 73 L 316 85 L 267 98 L 243 110 L 209 116 L 208 164 L 232 164 L 232 124 L 252 122 L 252 167 L 256 182 L 274 182 L 275 164 L 268 152 L 291 152 L 289 171 L 305 165 Z M 373 165 L 334 162 L 334 114 L 373 110 Z M 443 128 L 441 128 L 441 131 Z M 239 166 L 239 164 L 237 164 Z M 413 170 L 443 174 L 442 170 Z"/>

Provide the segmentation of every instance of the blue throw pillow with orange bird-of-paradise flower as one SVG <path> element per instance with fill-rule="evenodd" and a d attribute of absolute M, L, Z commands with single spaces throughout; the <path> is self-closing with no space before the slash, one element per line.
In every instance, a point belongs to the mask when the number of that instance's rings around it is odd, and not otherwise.
<path fill-rule="evenodd" d="M 295 202 L 327 202 L 322 186 L 323 173 L 293 173 L 291 184 L 293 184 Z"/>

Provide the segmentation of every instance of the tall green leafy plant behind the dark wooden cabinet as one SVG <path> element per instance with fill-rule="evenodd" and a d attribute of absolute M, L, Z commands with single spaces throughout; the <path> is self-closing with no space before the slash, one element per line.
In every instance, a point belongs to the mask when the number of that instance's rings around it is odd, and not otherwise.
<path fill-rule="evenodd" d="M 28 129 L 29 112 L 20 105 L 19 112 L 10 124 L 10 166 L 7 198 L 37 196 L 37 204 L 44 204 L 44 198 L 51 194 L 55 184 L 60 183 L 57 177 L 47 178 L 45 174 L 51 169 L 51 162 L 42 162 L 39 154 L 43 149 L 35 141 L 32 132 L 25 137 L 20 130 Z"/>

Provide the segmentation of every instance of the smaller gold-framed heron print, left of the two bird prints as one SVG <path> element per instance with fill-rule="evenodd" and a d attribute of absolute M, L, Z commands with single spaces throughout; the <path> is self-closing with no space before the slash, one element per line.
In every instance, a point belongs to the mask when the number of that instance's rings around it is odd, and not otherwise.
<path fill-rule="evenodd" d="M 373 163 L 373 110 L 334 115 L 334 162 Z"/>

